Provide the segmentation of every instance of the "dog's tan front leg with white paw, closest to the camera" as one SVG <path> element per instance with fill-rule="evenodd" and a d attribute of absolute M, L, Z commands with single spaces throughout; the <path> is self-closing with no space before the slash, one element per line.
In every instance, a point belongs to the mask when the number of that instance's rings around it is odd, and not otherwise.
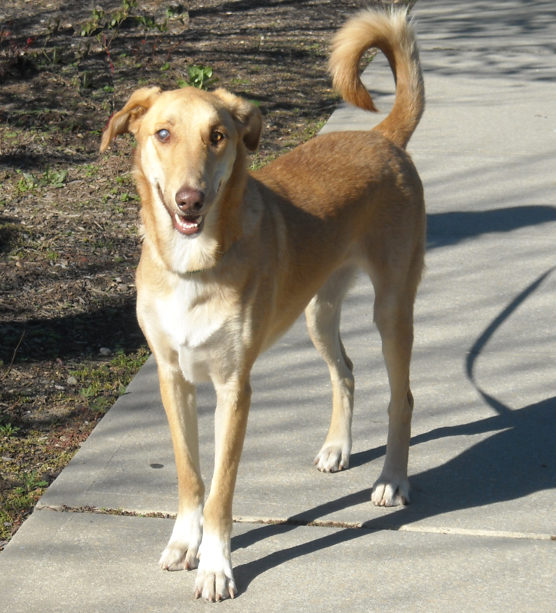
<path fill-rule="evenodd" d="M 195 581 L 195 598 L 202 595 L 210 602 L 234 598 L 237 593 L 230 554 L 232 499 L 251 402 L 248 379 L 237 377 L 215 388 L 215 472 L 205 503 Z"/>

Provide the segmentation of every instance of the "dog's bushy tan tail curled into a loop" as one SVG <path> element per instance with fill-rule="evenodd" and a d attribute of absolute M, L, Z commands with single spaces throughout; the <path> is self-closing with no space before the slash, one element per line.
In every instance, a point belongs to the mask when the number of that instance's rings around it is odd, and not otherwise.
<path fill-rule="evenodd" d="M 425 108 L 425 88 L 415 35 L 407 11 L 364 9 L 352 17 L 333 40 L 329 69 L 332 83 L 346 102 L 377 112 L 359 77 L 359 60 L 370 47 L 378 47 L 390 63 L 396 99 L 389 115 L 373 130 L 405 148 Z"/>

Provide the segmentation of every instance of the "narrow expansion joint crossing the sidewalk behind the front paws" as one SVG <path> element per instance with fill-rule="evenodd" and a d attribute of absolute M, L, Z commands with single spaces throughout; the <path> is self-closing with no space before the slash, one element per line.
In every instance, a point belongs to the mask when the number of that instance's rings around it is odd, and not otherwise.
<path fill-rule="evenodd" d="M 123 509 L 107 509 L 96 506 L 67 506 L 67 504 L 47 505 L 43 504 L 36 507 L 37 511 L 57 511 L 63 513 L 93 513 L 100 515 L 120 515 L 125 517 L 149 517 L 156 519 L 176 519 L 175 513 L 124 511 Z M 543 534 L 538 532 L 512 532 L 506 530 L 479 530 L 478 528 L 442 528 L 434 526 L 417 526 L 412 524 L 380 524 L 376 520 L 368 522 L 332 522 L 327 520 L 308 520 L 299 517 L 257 517 L 257 516 L 238 516 L 234 517 L 234 524 L 266 524 L 266 525 L 288 525 L 288 526 L 307 526 L 316 528 L 353 528 L 356 530 L 382 531 L 391 530 L 394 532 L 420 532 L 428 534 L 460 535 L 460 536 L 482 536 L 486 538 L 515 538 L 529 539 L 532 541 L 555 541 L 556 535 Z"/>

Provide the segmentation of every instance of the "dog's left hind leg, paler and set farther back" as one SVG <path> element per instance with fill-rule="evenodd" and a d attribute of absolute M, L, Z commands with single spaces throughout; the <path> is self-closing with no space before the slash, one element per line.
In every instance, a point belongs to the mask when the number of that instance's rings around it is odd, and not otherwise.
<path fill-rule="evenodd" d="M 353 365 L 340 338 L 340 312 L 355 270 L 341 268 L 332 273 L 305 309 L 309 334 L 329 367 L 332 381 L 332 420 L 324 445 L 314 459 L 324 473 L 348 468 L 351 453 Z"/>

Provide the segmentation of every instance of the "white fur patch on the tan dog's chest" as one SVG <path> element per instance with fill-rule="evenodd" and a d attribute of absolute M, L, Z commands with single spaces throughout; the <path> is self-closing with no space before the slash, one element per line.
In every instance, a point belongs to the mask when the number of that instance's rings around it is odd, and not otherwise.
<path fill-rule="evenodd" d="M 233 297 L 227 293 L 193 276 L 156 300 L 159 326 L 178 352 L 183 376 L 191 383 L 225 381 L 235 370 L 242 326 L 232 308 Z"/>

